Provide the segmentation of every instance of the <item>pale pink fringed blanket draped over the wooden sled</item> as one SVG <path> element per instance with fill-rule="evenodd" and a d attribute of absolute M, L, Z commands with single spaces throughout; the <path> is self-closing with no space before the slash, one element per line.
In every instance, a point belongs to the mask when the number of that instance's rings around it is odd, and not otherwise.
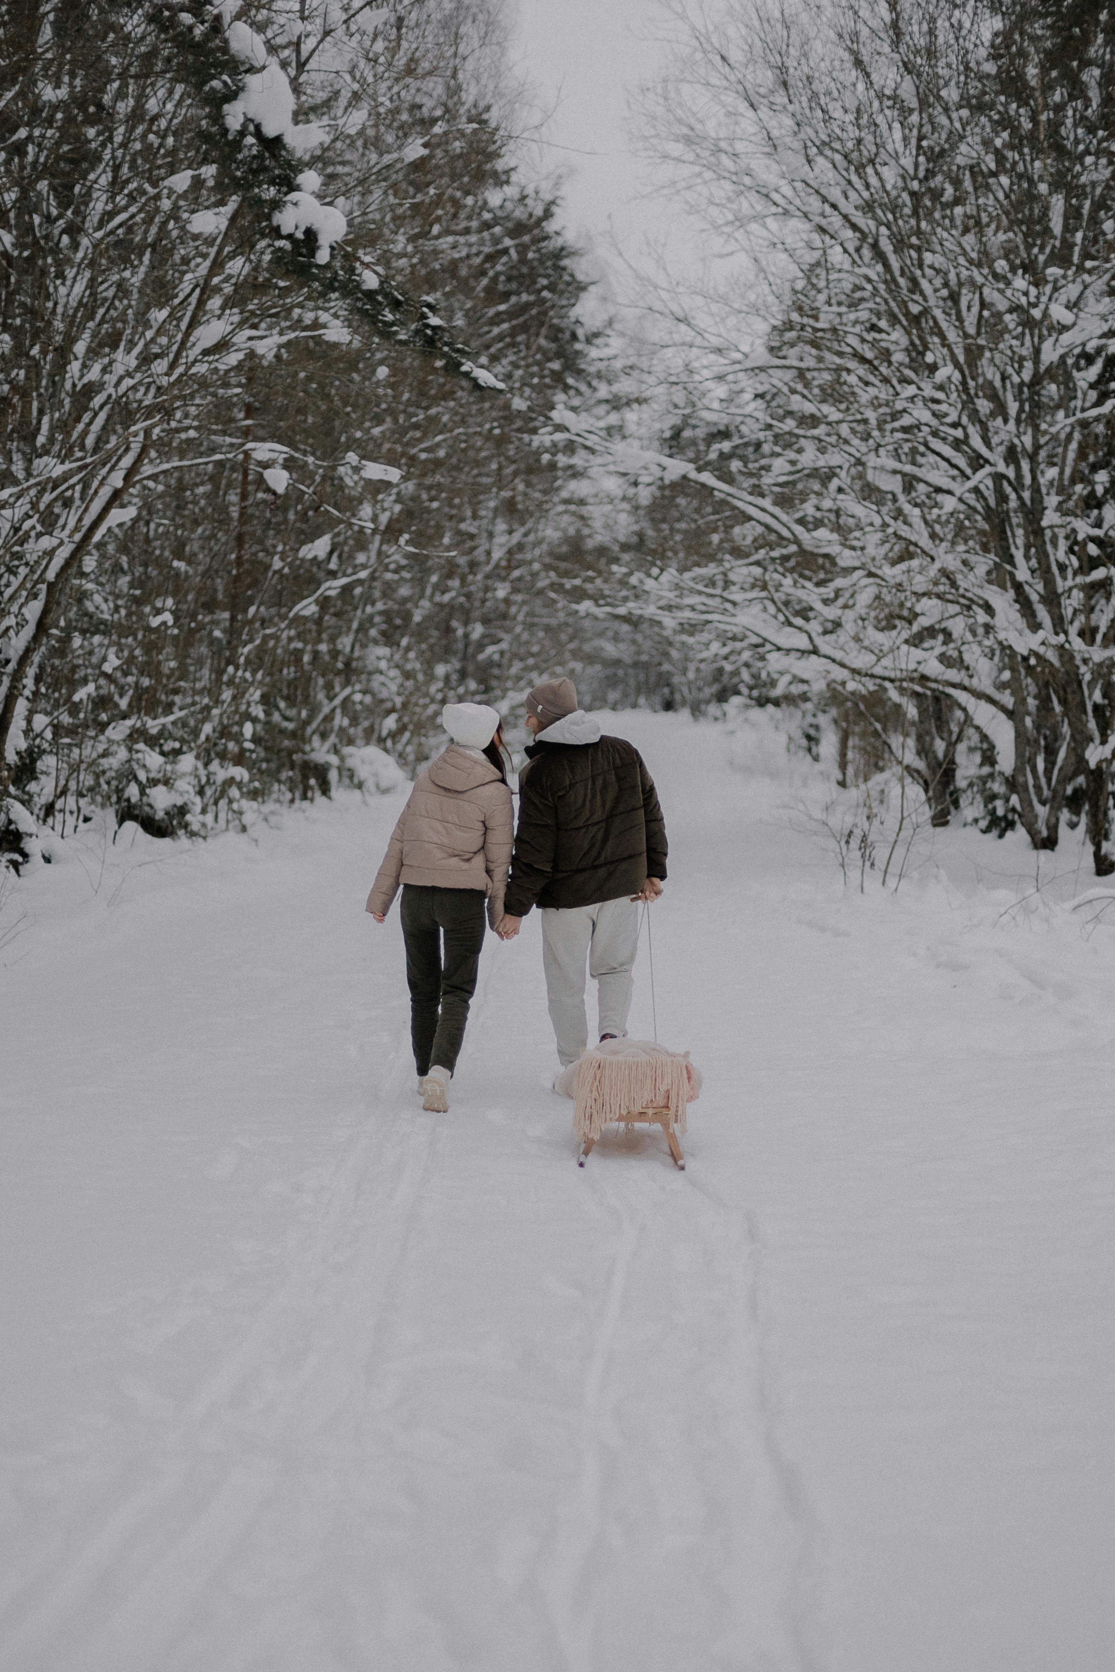
<path fill-rule="evenodd" d="M 582 1144 L 595 1142 L 608 1120 L 635 1109 L 669 1109 L 674 1127 L 684 1132 L 685 1107 L 700 1095 L 700 1070 L 689 1052 L 650 1040 L 603 1040 L 562 1070 L 555 1090 L 575 1100 L 573 1132 Z"/>

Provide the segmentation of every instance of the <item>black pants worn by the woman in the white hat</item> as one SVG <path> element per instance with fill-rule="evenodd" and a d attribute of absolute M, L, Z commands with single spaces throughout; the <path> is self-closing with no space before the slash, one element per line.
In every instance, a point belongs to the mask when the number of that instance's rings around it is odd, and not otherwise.
<path fill-rule="evenodd" d="M 456 1067 L 476 991 L 486 901 L 478 888 L 403 888 L 410 1033 L 418 1073 Z M 445 935 L 445 953 L 441 936 Z"/>

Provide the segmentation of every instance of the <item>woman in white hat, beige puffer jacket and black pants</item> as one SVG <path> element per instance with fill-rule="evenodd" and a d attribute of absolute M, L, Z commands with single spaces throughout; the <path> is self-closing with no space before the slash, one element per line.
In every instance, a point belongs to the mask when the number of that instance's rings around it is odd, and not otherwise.
<path fill-rule="evenodd" d="M 512 791 L 495 709 L 451 702 L 441 724 L 453 744 L 420 774 L 368 895 L 368 911 L 383 923 L 403 884 L 418 1090 L 425 1109 L 445 1112 L 476 991 L 485 905 L 491 928 L 503 916 Z"/>

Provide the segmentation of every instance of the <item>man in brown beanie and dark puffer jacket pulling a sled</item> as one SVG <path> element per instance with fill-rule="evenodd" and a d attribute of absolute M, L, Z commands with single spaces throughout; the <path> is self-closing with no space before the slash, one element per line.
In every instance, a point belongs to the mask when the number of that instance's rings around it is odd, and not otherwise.
<path fill-rule="evenodd" d="M 542 911 L 550 1020 L 562 1065 L 588 1043 L 585 958 L 597 981 L 600 1038 L 622 1038 L 639 946 L 639 903 L 665 879 L 665 824 L 650 772 L 622 737 L 605 737 L 577 707 L 572 679 L 547 681 L 527 697 L 535 734 L 520 772 L 512 878 L 496 925 L 518 935 Z"/>

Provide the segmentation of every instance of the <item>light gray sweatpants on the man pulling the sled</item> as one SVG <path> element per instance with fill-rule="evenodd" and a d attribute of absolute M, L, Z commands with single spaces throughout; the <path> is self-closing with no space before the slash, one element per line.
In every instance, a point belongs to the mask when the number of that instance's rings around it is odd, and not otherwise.
<path fill-rule="evenodd" d="M 577 1062 L 588 1043 L 585 953 L 600 1002 L 597 1032 L 622 1038 L 627 1033 L 637 948 L 637 900 L 605 900 L 598 906 L 567 910 L 542 908 L 542 966 L 562 1067 Z"/>

